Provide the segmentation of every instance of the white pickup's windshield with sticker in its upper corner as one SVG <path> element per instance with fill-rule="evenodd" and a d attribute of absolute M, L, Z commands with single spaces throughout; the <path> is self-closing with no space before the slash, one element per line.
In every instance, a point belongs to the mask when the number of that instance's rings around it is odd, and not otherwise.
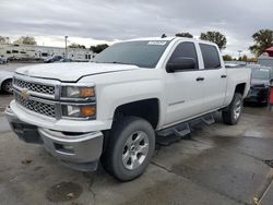
<path fill-rule="evenodd" d="M 97 55 L 93 62 L 155 68 L 168 44 L 167 40 L 118 43 Z"/>

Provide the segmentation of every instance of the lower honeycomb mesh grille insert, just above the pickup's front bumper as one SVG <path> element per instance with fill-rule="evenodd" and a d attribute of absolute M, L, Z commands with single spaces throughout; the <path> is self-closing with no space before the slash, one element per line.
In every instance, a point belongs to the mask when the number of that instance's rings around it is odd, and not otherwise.
<path fill-rule="evenodd" d="M 51 118 L 56 117 L 55 105 L 50 105 L 50 104 L 46 104 L 46 102 L 33 100 L 33 99 L 25 100 L 17 93 L 14 93 L 14 97 L 17 104 L 20 104 L 21 106 L 25 107 L 26 109 L 31 111 L 34 111 L 34 112 L 37 112 L 47 117 L 51 117 Z"/>

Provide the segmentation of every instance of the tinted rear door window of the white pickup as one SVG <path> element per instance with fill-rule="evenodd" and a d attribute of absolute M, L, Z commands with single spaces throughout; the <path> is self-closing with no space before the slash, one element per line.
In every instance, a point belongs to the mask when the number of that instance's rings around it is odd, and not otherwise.
<path fill-rule="evenodd" d="M 215 46 L 200 44 L 200 49 L 204 61 L 204 69 L 221 68 L 219 55 Z"/>

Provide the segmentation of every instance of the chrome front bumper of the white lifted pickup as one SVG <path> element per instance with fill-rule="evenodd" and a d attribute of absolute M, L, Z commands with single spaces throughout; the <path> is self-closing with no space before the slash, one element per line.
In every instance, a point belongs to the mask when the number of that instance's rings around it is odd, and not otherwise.
<path fill-rule="evenodd" d="M 81 171 L 96 170 L 103 152 L 100 131 L 76 133 L 38 128 L 20 120 L 8 107 L 5 114 L 12 130 L 26 143 L 43 144 L 62 164 Z"/>

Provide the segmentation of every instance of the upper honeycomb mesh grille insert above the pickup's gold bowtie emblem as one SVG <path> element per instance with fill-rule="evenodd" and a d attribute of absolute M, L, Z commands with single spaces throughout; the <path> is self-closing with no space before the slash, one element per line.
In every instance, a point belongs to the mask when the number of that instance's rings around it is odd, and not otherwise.
<path fill-rule="evenodd" d="M 15 77 L 13 80 L 13 84 L 20 88 L 27 88 L 35 93 L 55 95 L 55 86 L 51 86 L 51 85 L 41 85 L 38 83 L 26 82 L 26 81 L 15 79 Z"/>

